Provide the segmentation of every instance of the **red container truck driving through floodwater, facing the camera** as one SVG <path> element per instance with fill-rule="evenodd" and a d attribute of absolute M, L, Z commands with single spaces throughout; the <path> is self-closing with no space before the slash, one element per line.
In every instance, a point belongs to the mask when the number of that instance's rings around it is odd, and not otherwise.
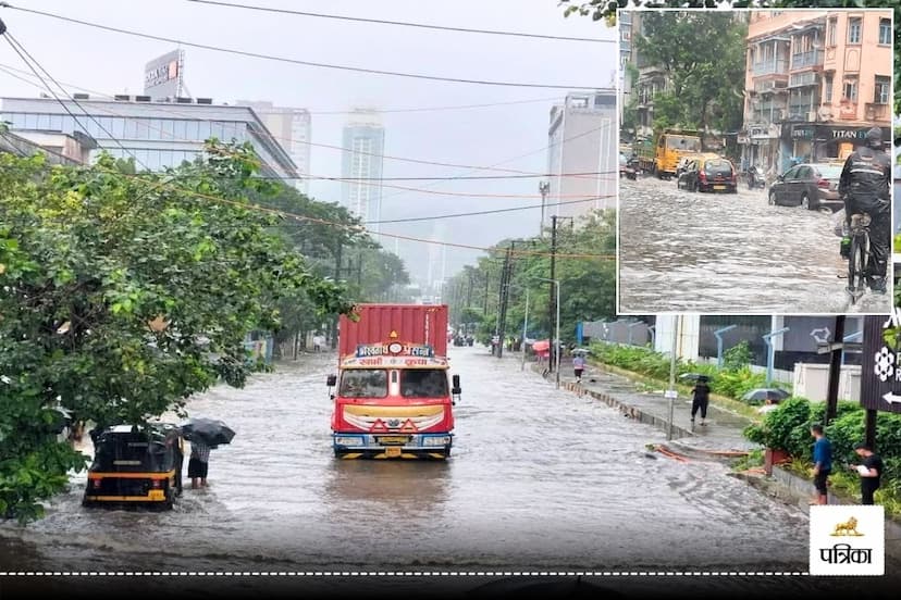
<path fill-rule="evenodd" d="M 459 375 L 448 385 L 446 304 L 359 304 L 342 315 L 332 445 L 343 459 L 446 459 Z"/>

